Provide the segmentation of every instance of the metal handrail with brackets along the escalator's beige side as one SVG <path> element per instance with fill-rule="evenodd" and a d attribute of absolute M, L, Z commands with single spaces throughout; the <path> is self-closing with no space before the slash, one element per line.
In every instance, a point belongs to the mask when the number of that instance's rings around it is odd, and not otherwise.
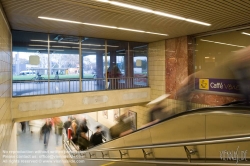
<path fill-rule="evenodd" d="M 230 136 L 230 137 L 224 137 L 224 138 L 213 138 L 213 139 L 203 139 L 203 140 L 196 140 L 196 141 L 186 141 L 186 142 L 171 142 L 171 143 L 164 143 L 164 144 L 155 144 L 155 145 L 142 145 L 142 146 L 127 146 L 127 147 L 115 147 L 115 148 L 101 148 L 101 149 L 90 149 L 86 151 L 77 151 L 77 152 L 72 152 L 74 157 L 79 157 L 84 159 L 84 160 L 93 160 L 93 161 L 113 161 L 113 162 L 128 162 L 128 163 L 145 163 L 145 164 L 169 164 L 169 165 L 221 165 L 221 166 L 228 166 L 228 165 L 235 165 L 236 163 L 225 163 L 219 159 L 213 159 L 211 162 L 209 161 L 209 158 L 204 158 L 205 162 L 191 162 L 191 156 L 198 153 L 196 149 L 188 149 L 187 146 L 195 146 L 195 145 L 210 145 L 210 144 L 222 144 L 222 143 L 235 143 L 235 142 L 246 142 L 250 141 L 250 135 L 235 135 L 235 136 Z M 156 148 L 170 148 L 170 147 L 182 147 L 183 150 L 186 153 L 187 156 L 187 162 L 185 161 L 163 161 L 163 160 L 157 160 L 153 156 L 153 150 Z M 144 158 L 143 160 L 141 159 L 131 159 L 128 155 L 128 150 L 138 150 L 140 149 Z M 110 158 L 109 152 L 110 151 L 118 151 L 120 154 L 120 159 L 117 158 Z M 96 153 L 101 154 L 101 158 L 96 157 Z M 87 155 L 88 154 L 88 155 Z M 87 157 L 89 156 L 89 157 Z M 126 160 L 123 160 L 124 156 L 128 156 Z M 152 158 L 148 158 L 149 156 L 152 156 Z M 202 158 L 203 159 L 203 158 Z M 201 159 L 201 160 L 202 160 Z M 174 159 L 169 159 L 168 160 L 174 160 Z M 199 161 L 199 160 L 198 160 Z M 216 163 L 214 161 L 217 161 Z M 237 163 L 237 165 L 240 166 L 249 166 L 249 162 L 247 163 Z"/>

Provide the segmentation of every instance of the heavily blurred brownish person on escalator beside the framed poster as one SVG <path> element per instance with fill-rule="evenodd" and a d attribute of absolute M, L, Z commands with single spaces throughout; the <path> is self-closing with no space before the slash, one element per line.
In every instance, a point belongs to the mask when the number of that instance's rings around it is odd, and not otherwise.
<path fill-rule="evenodd" d="M 122 137 L 133 132 L 131 128 L 131 119 L 127 118 L 125 114 L 117 118 L 117 122 L 117 124 L 115 124 L 109 129 L 110 136 L 112 139 Z"/>

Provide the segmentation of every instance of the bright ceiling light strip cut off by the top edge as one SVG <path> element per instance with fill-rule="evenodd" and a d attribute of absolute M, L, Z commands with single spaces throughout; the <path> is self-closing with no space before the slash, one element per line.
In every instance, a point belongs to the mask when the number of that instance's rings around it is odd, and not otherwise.
<path fill-rule="evenodd" d="M 156 15 L 160 15 L 160 16 L 164 16 L 164 17 L 169 17 L 169 18 L 173 18 L 173 19 L 192 22 L 192 23 L 195 23 L 195 24 L 211 26 L 211 24 L 206 23 L 206 22 L 197 21 L 197 20 L 193 20 L 193 19 L 188 19 L 188 18 L 185 18 L 185 17 L 180 17 L 180 16 L 177 16 L 177 15 L 173 15 L 173 14 L 169 14 L 169 13 L 165 13 L 165 12 L 154 11 L 154 10 L 151 10 L 151 9 L 147 9 L 147 8 L 143 8 L 143 7 L 139 7 L 139 6 L 134 6 L 134 5 L 126 4 L 126 3 L 121 3 L 121 2 L 116 2 L 116 1 L 109 1 L 109 0 L 96 0 L 96 1 L 105 2 L 105 3 L 109 3 L 109 4 L 112 4 L 112 5 L 116 5 L 116 6 L 129 8 L 129 9 L 133 9 L 133 10 L 138 10 L 138 11 L 142 11 L 142 12 L 146 12 L 146 13 L 152 13 L 152 14 L 156 14 Z"/>

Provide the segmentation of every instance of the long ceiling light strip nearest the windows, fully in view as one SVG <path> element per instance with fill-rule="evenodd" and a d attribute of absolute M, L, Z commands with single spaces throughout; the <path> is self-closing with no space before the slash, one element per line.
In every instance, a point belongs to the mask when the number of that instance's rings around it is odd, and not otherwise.
<path fill-rule="evenodd" d="M 140 32 L 140 33 L 148 33 L 148 34 L 154 34 L 154 35 L 168 36 L 168 34 L 156 33 L 156 32 L 147 32 L 147 31 L 143 31 L 143 30 L 123 28 L 123 27 L 115 27 L 115 26 L 108 26 L 108 25 L 101 25 L 101 24 L 91 24 L 91 23 L 84 23 L 84 22 L 64 20 L 64 19 L 58 19 L 58 18 L 50 18 L 50 17 L 43 17 L 43 16 L 39 16 L 38 18 L 46 19 L 46 20 L 52 20 L 52 21 L 62 21 L 62 22 L 67 22 L 67 23 L 77 23 L 77 24 L 83 24 L 83 25 L 97 26 L 97 27 L 102 27 L 102 28 L 119 29 L 119 30 L 125 30 L 125 31 L 132 31 L 132 32 Z"/>

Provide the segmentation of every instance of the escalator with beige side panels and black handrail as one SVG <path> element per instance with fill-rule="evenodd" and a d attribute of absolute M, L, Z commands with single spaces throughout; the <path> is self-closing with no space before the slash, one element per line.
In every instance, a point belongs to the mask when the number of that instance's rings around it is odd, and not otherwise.
<path fill-rule="evenodd" d="M 83 166 L 250 165 L 250 107 L 190 110 L 87 151 L 66 149 Z"/>

